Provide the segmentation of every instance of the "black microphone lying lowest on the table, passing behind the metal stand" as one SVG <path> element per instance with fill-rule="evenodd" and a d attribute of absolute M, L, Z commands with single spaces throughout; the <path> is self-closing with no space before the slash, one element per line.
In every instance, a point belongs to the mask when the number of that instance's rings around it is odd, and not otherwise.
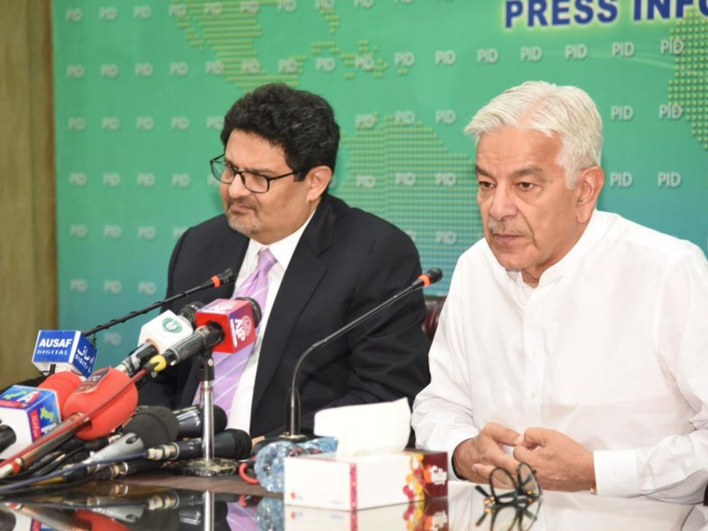
<path fill-rule="evenodd" d="M 235 459 L 250 457 L 250 435 L 241 429 L 229 428 L 214 436 L 214 457 Z M 189 439 L 175 443 L 161 444 L 146 450 L 146 458 L 151 461 L 174 461 L 202 457 L 202 439 Z"/>

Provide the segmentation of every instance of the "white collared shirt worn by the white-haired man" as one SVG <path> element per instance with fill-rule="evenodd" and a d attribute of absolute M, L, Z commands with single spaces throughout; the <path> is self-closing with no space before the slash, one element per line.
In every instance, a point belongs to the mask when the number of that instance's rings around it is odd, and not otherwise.
<path fill-rule="evenodd" d="M 696 245 L 594 212 L 533 289 L 481 240 L 459 258 L 429 361 L 420 447 L 451 457 L 489 421 L 548 427 L 594 452 L 598 494 L 702 499 L 708 262 Z"/>

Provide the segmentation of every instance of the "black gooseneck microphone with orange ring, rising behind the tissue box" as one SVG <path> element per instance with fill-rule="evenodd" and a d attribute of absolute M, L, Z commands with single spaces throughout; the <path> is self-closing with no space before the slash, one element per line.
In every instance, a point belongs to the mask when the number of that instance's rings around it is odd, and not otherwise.
<path fill-rule="evenodd" d="M 426 273 L 422 273 L 410 286 L 408 286 L 408 288 L 403 291 L 399 291 L 396 295 L 386 299 L 378 306 L 373 307 L 368 312 L 360 315 L 357 319 L 354 319 L 349 324 L 344 325 L 334 333 L 327 335 L 327 337 L 314 343 L 309 349 L 305 350 L 300 358 L 297 359 L 295 369 L 293 370 L 293 380 L 290 383 L 290 389 L 288 390 L 288 402 L 286 404 L 286 421 L 288 423 L 287 431 L 281 435 L 281 438 L 290 440 L 301 440 L 305 438 L 305 436 L 300 433 L 300 392 L 297 390 L 297 375 L 300 373 L 300 367 L 303 365 L 305 358 L 310 356 L 310 354 L 312 354 L 315 350 L 319 350 L 322 347 L 327 346 L 330 342 L 333 342 L 335 339 L 338 339 L 342 335 L 346 334 L 352 328 L 358 327 L 358 325 L 366 321 L 366 319 L 372 318 L 377 313 L 388 308 L 391 304 L 396 303 L 396 301 L 412 294 L 413 291 L 427 288 L 430 284 L 435 284 L 435 282 L 440 281 L 442 278 L 443 272 L 437 267 L 427 270 Z"/>

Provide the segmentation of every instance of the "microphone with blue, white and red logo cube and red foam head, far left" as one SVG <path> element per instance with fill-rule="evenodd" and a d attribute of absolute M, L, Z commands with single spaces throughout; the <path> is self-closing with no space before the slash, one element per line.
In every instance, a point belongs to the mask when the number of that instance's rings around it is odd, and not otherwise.
<path fill-rule="evenodd" d="M 66 398 L 80 383 L 75 373 L 55 373 L 38 388 L 5 389 L 0 394 L 0 457 L 12 455 L 57 427 Z"/>

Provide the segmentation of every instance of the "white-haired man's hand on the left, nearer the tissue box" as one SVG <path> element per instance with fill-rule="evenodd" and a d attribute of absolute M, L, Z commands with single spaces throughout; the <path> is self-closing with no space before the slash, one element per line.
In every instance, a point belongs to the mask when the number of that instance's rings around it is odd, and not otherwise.
<path fill-rule="evenodd" d="M 523 436 L 510 427 L 489 422 L 480 435 L 459 443 L 452 452 L 452 463 L 458 475 L 478 483 L 489 481 L 489 474 L 501 466 L 516 477 L 519 462 L 504 453 L 504 445 L 517 446 L 523 443 Z"/>

